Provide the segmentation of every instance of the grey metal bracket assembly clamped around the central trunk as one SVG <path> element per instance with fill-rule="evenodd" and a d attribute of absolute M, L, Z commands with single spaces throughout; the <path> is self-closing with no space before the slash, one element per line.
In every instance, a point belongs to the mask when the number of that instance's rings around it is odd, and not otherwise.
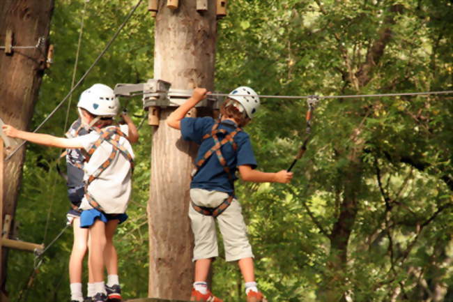
<path fill-rule="evenodd" d="M 171 89 L 171 84 L 163 80 L 150 79 L 140 84 L 116 84 L 114 93 L 116 96 L 143 96 L 143 107 L 178 107 L 187 98 L 192 96 L 192 90 Z M 208 96 L 206 100 L 197 104 L 197 107 L 210 107 L 218 109 L 220 101 L 216 96 Z"/>

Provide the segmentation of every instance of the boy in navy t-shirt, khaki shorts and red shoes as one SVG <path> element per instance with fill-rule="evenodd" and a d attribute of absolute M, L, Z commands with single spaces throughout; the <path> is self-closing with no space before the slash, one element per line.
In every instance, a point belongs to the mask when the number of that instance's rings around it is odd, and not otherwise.
<path fill-rule="evenodd" d="M 256 92 L 245 86 L 233 90 L 220 109 L 220 121 L 211 117 L 185 118 L 187 112 L 206 98 L 206 89 L 194 89 L 192 97 L 172 112 L 167 124 L 181 130 L 183 138 L 199 144 L 190 184 L 189 216 L 194 232 L 195 275 L 190 301 L 222 302 L 208 290 L 210 264 L 218 256 L 215 219 L 224 240 L 227 261 L 238 261 L 245 280 L 247 302 L 266 301 L 254 278 L 252 247 L 241 207 L 234 196 L 236 170 L 244 181 L 289 183 L 293 173 L 257 171 L 246 126 L 259 107 Z"/>

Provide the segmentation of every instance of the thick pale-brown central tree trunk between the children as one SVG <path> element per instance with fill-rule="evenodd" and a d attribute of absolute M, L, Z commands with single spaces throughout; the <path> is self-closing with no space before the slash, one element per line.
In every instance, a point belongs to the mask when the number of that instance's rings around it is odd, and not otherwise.
<path fill-rule="evenodd" d="M 196 0 L 179 1 L 170 10 L 160 1 L 155 25 L 154 77 L 174 89 L 213 89 L 216 17 L 214 1 L 197 13 Z M 197 146 L 181 139 L 165 119 L 174 108 L 162 108 L 153 134 L 148 201 L 150 236 L 148 296 L 188 300 L 192 287 L 193 236 L 188 218 L 192 160 Z"/>

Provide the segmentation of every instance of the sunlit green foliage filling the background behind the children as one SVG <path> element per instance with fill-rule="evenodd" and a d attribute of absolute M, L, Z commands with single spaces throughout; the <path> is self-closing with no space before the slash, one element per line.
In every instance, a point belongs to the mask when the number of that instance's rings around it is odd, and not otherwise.
<path fill-rule="evenodd" d="M 106 3 L 88 3 L 77 78 L 132 6 Z M 82 0 L 56 3 L 56 63 L 45 75 L 31 128 L 70 89 L 82 8 Z M 445 0 L 230 1 L 229 15 L 218 22 L 215 86 L 303 96 L 452 90 L 452 16 Z M 142 6 L 74 99 L 95 82 L 113 86 L 152 77 L 152 35 L 153 20 Z M 374 52 L 377 41 L 385 45 L 381 53 Z M 76 116 L 74 103 L 69 121 Z M 259 169 L 286 169 L 306 137 L 305 100 L 262 104 L 246 128 Z M 139 100 L 124 105 L 139 123 Z M 453 299 L 452 115 L 451 96 L 324 99 L 291 185 L 238 183 L 256 276 L 270 301 Z M 65 121 L 61 110 L 42 131 L 61 135 Z M 151 129 L 140 132 L 130 220 L 117 236 L 125 297 L 147 294 Z M 16 216 L 20 239 L 49 243 L 63 227 L 68 204 L 54 169 L 57 156 L 29 146 Z M 29 297 L 68 298 L 71 241 L 67 230 L 49 249 Z M 214 266 L 213 291 L 243 301 L 237 267 L 222 259 Z M 32 267 L 32 255 L 10 252 L 13 301 Z"/>

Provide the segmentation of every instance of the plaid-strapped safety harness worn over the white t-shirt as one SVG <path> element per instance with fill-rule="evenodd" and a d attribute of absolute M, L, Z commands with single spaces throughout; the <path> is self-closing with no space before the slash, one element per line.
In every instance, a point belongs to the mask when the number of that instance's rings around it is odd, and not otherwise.
<path fill-rule="evenodd" d="M 95 128 L 92 127 L 92 130 L 95 130 L 97 133 L 99 133 L 100 137 L 99 139 L 91 146 L 89 151 L 87 152 L 87 155 L 85 157 L 85 161 L 89 162 L 91 156 L 93 153 L 98 149 L 98 147 L 102 144 L 102 142 L 108 142 L 109 144 L 112 144 L 112 153 L 110 153 L 109 158 L 105 160 L 98 169 L 95 170 L 93 174 L 91 174 L 88 178 L 88 180 L 85 182 L 85 197 L 86 200 L 88 200 L 89 204 L 94 208 L 97 209 L 98 211 L 104 212 L 102 209 L 102 206 L 98 202 L 96 202 L 95 198 L 93 195 L 91 195 L 88 192 L 88 186 L 90 183 L 92 183 L 95 179 L 97 179 L 102 172 L 105 171 L 110 165 L 112 165 L 114 158 L 116 157 L 116 154 L 119 152 L 121 153 L 126 159 L 129 160 L 130 163 L 130 168 L 132 169 L 132 172 L 134 172 L 134 159 L 130 155 L 129 151 L 125 149 L 121 144 L 119 144 L 119 139 L 120 137 L 124 137 L 125 139 L 128 139 L 128 137 L 120 130 L 118 126 L 108 126 L 106 128 Z"/>

